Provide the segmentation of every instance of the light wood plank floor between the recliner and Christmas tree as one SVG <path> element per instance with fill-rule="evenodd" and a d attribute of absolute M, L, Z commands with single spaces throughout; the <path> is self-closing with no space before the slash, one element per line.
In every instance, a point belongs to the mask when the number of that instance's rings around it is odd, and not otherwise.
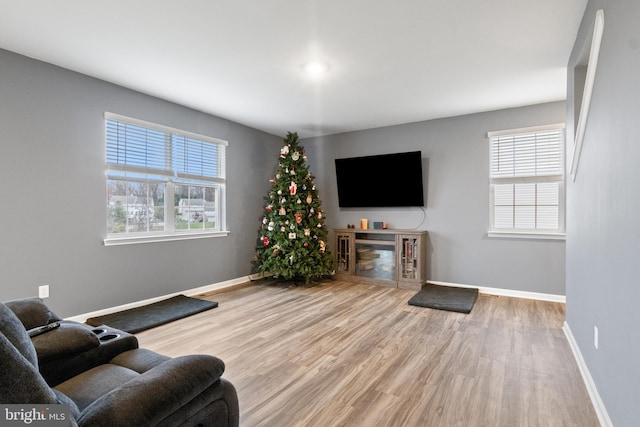
<path fill-rule="evenodd" d="M 242 427 L 599 425 L 564 304 L 481 294 L 460 314 L 409 306 L 414 293 L 257 282 L 137 336 L 224 360 Z"/>

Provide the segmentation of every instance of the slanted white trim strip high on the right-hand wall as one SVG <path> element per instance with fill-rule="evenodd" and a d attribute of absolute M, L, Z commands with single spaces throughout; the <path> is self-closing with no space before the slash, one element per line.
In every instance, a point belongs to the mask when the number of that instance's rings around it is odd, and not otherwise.
<path fill-rule="evenodd" d="M 580 115 L 578 116 L 578 126 L 573 144 L 573 155 L 571 156 L 571 166 L 569 168 L 573 180 L 578 174 L 578 163 L 580 163 L 580 153 L 582 152 L 582 142 L 587 127 L 589 117 L 589 107 L 591 106 L 591 95 L 593 94 L 593 84 L 596 80 L 596 69 L 598 68 L 598 56 L 600 55 L 600 44 L 602 43 L 602 33 L 604 32 L 604 10 L 596 12 L 596 21 L 593 27 L 593 38 L 591 39 L 591 50 L 589 52 L 589 62 L 587 64 L 587 76 L 584 82 L 584 92 L 582 94 L 582 104 L 580 105 Z"/>

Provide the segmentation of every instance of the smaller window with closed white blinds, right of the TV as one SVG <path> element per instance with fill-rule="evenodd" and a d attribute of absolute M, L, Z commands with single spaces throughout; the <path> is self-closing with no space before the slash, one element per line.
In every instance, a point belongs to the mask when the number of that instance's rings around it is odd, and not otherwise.
<path fill-rule="evenodd" d="M 564 124 L 489 133 L 490 235 L 562 237 Z"/>

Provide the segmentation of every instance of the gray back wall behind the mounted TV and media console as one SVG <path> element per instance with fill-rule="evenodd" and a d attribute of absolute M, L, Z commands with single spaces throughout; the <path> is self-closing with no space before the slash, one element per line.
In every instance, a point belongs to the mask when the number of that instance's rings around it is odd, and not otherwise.
<path fill-rule="evenodd" d="M 561 123 L 565 115 L 565 103 L 555 102 L 306 139 L 303 144 L 330 228 L 367 218 L 392 228 L 428 230 L 430 280 L 565 295 L 564 241 L 486 235 L 487 132 Z M 423 156 L 424 211 L 338 208 L 334 159 L 413 150 Z"/>

